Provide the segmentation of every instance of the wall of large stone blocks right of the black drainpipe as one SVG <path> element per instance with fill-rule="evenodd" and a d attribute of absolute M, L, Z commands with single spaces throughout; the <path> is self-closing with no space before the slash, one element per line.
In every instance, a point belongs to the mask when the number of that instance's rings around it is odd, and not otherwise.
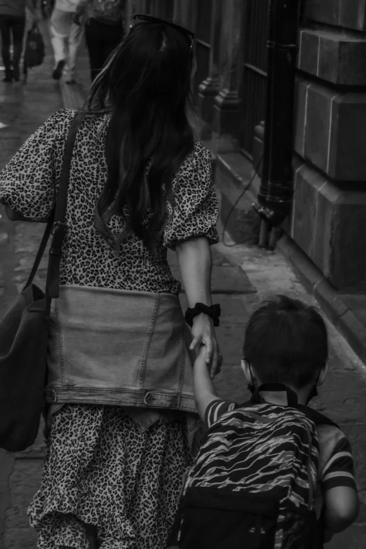
<path fill-rule="evenodd" d="M 366 290 L 366 0 L 308 0 L 299 30 L 290 235 L 341 292 Z"/>

